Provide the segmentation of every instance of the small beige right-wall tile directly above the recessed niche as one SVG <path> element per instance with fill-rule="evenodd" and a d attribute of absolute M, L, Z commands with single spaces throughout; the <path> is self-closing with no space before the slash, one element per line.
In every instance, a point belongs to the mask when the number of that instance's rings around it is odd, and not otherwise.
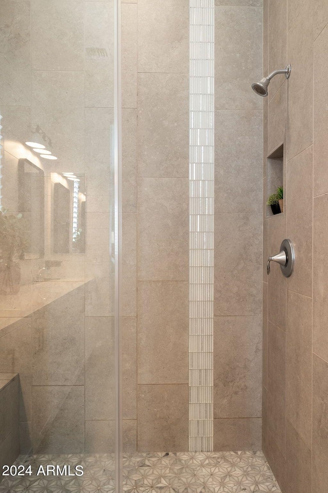
<path fill-rule="evenodd" d="M 270 84 L 271 88 L 271 84 Z M 269 91 L 270 91 L 269 88 Z M 269 96 L 270 97 L 270 96 Z M 268 155 L 278 146 L 285 142 L 286 138 L 286 118 L 287 118 L 287 84 L 276 92 L 275 96 L 269 101 L 268 109 Z"/>

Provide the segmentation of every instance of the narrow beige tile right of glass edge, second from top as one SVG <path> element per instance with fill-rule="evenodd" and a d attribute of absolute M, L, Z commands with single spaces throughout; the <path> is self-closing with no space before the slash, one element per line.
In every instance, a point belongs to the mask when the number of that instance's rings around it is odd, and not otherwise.
<path fill-rule="evenodd" d="M 122 212 L 137 212 L 137 110 L 122 110 Z"/>

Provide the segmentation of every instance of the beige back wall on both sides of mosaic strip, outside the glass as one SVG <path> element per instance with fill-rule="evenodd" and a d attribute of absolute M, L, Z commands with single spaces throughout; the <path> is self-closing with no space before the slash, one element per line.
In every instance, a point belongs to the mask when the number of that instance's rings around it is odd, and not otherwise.
<path fill-rule="evenodd" d="M 214 449 L 259 449 L 262 6 L 221 0 L 215 15 Z M 188 0 L 122 3 L 124 315 L 137 320 L 123 408 L 140 451 L 188 449 L 188 41 Z"/>

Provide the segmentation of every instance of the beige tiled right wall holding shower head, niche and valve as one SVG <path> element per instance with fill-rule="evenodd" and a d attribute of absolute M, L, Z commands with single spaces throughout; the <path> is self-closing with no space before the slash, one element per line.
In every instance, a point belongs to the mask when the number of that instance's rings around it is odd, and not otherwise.
<path fill-rule="evenodd" d="M 292 65 L 264 100 L 264 185 L 265 157 L 283 143 L 285 191 L 284 213 L 264 217 L 263 450 L 286 493 L 328 483 L 327 24 L 325 1 L 264 0 L 264 74 Z M 268 277 L 283 238 L 295 271 Z"/>

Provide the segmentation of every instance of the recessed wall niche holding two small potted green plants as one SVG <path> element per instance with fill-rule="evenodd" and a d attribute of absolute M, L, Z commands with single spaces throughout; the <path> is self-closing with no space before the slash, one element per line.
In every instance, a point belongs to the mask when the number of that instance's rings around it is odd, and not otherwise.
<path fill-rule="evenodd" d="M 267 201 L 269 197 L 277 194 L 279 187 L 283 187 L 283 144 L 277 147 L 267 158 Z M 280 213 L 283 212 L 283 202 L 279 202 Z M 275 213 L 277 214 L 277 212 Z M 279 214 L 279 212 L 278 212 Z M 267 203 L 267 217 L 273 216 L 271 205 Z"/>

